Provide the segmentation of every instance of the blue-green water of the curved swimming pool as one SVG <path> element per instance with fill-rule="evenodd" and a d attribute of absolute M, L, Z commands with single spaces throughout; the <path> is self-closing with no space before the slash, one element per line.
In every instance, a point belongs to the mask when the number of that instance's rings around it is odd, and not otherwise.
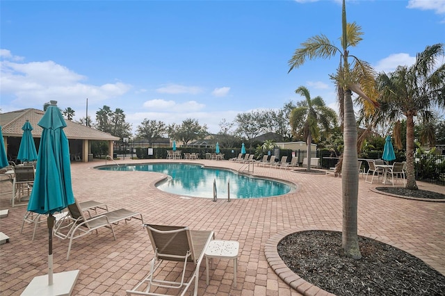
<path fill-rule="evenodd" d="M 140 165 L 108 165 L 99 170 L 160 172 L 172 178 L 156 185 L 165 192 L 191 197 L 213 198 L 213 181 L 216 181 L 218 199 L 227 199 L 227 182 L 230 182 L 230 198 L 244 199 L 284 195 L 291 186 L 268 179 L 252 178 L 230 170 L 206 168 L 185 163 L 153 163 Z"/>

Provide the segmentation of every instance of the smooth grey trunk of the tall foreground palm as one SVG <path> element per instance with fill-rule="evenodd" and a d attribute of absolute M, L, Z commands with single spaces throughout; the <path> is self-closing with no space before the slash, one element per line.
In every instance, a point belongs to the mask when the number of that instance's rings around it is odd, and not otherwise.
<path fill-rule="evenodd" d="M 343 164 L 341 167 L 341 190 L 343 198 L 343 252 L 350 258 L 362 258 L 357 236 L 357 200 L 359 194 L 359 171 L 357 164 L 357 126 L 352 93 L 344 92 Z"/>

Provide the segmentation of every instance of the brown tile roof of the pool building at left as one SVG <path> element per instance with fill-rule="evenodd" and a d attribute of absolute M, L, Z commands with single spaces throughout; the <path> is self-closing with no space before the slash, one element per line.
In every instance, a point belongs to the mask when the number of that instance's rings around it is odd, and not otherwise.
<path fill-rule="evenodd" d="M 31 131 L 34 138 L 40 138 L 42 135 L 42 128 L 38 126 L 38 122 L 44 115 L 44 111 L 38 109 L 23 109 L 8 113 L 0 113 L 0 125 L 1 131 L 4 137 L 22 137 L 22 126 L 29 120 L 33 131 Z M 83 124 L 72 122 L 71 120 L 65 120 L 67 126 L 63 131 L 67 135 L 68 139 L 81 139 L 81 140 L 106 140 L 116 141 L 120 138 L 115 137 L 109 133 L 92 129 Z"/>

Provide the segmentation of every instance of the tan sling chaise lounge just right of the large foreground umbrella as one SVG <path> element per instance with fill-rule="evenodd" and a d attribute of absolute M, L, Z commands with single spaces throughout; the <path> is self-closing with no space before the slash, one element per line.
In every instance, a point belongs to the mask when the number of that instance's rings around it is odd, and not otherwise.
<path fill-rule="evenodd" d="M 131 220 L 131 218 L 138 219 L 144 223 L 143 217 L 140 213 L 129 211 L 125 208 L 92 216 L 90 215 L 89 211 L 82 211 L 81 204 L 77 202 L 77 200 L 74 204 L 70 204 L 68 206 L 68 213 L 69 215 L 66 215 L 66 217 L 64 217 L 54 229 L 54 236 L 63 240 L 65 238 L 70 238 L 67 260 L 70 258 L 72 240 L 75 238 L 86 236 L 92 231 L 96 231 L 97 233 L 97 229 L 107 227 L 111 229 L 113 238 L 116 240 L 113 224 L 117 225 L 120 221 L 125 221 L 125 223 L 127 223 L 127 221 Z M 68 229 L 68 231 L 66 231 L 66 229 Z"/>

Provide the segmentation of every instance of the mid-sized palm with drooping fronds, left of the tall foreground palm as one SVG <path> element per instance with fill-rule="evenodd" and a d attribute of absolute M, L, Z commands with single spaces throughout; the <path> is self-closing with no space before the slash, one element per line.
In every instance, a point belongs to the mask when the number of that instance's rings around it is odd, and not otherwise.
<path fill-rule="evenodd" d="M 290 116 L 290 124 L 294 136 L 303 135 L 307 143 L 307 170 L 311 170 L 311 146 L 312 139 L 320 138 L 320 125 L 323 129 L 330 129 L 331 124 L 337 125 L 337 114 L 327 107 L 323 99 L 318 96 L 311 99 L 309 90 L 304 86 L 296 89 L 296 94 L 306 98 L 299 101 L 293 108 Z"/>

